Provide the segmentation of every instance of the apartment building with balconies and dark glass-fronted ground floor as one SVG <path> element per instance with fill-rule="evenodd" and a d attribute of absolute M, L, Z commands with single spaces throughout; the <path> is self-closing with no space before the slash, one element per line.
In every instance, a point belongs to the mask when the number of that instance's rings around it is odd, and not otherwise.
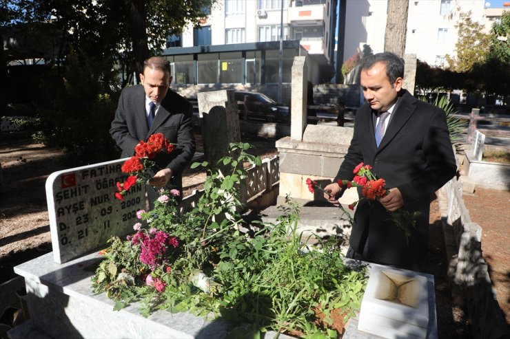
<path fill-rule="evenodd" d="M 278 83 L 282 28 L 286 41 L 283 83 L 291 81 L 296 55 L 309 56 L 311 80 L 319 82 L 327 74 L 331 78 L 336 0 L 221 0 L 201 27 L 190 25 L 182 34 L 170 36 L 163 55 L 173 62 L 172 67 L 181 67 L 181 61 L 195 64 L 194 69 L 188 68 L 191 73 L 185 78 L 178 76 L 176 83 L 225 83 L 221 74 L 229 69 L 229 63 L 238 65 L 229 83 Z M 297 41 L 297 49 L 291 41 Z M 205 63 L 213 72 L 201 67 Z"/>

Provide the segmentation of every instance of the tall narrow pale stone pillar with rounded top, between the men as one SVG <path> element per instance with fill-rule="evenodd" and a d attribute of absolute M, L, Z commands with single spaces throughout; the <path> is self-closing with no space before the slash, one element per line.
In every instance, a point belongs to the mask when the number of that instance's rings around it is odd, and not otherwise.
<path fill-rule="evenodd" d="M 303 131 L 307 126 L 307 74 L 306 56 L 294 57 L 290 138 L 296 141 L 303 140 Z"/>

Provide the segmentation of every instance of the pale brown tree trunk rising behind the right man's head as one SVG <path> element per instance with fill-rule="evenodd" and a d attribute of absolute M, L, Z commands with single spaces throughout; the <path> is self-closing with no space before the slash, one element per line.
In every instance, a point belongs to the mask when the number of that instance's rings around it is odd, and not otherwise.
<path fill-rule="evenodd" d="M 388 0 L 385 52 L 394 52 L 402 58 L 405 52 L 408 10 L 409 0 Z"/>

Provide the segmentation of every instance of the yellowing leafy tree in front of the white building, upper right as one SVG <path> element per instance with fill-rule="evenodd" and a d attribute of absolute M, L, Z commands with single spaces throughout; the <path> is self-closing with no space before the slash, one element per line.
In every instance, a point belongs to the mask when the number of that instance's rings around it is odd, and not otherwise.
<path fill-rule="evenodd" d="M 456 72 L 468 72 L 477 63 L 483 63 L 489 53 L 491 37 L 483 32 L 483 25 L 471 20 L 471 11 L 460 13 L 455 25 L 458 41 L 455 45 L 456 56 L 447 54 L 449 68 Z"/>

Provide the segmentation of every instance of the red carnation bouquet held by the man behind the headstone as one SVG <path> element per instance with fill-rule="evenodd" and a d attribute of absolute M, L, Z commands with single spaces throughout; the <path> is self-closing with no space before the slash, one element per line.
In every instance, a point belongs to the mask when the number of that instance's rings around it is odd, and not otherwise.
<path fill-rule="evenodd" d="M 151 135 L 147 142 L 141 141 L 134 148 L 134 156 L 130 157 L 122 165 L 122 172 L 128 173 L 130 176 L 125 182 L 117 182 L 117 190 L 115 197 L 119 200 L 124 199 L 124 195 L 132 186 L 136 184 L 148 184 L 152 178 L 152 167 L 154 167 L 154 157 L 158 153 L 172 153 L 175 145 L 169 142 L 163 133 Z"/>

